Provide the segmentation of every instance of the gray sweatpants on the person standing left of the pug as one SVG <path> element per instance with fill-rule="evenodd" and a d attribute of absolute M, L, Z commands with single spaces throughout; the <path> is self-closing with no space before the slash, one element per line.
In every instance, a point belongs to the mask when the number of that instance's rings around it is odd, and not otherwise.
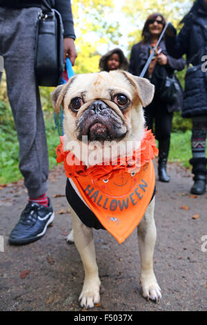
<path fill-rule="evenodd" d="M 38 12 L 39 8 L 0 7 L 0 55 L 4 59 L 8 98 L 19 139 L 19 169 L 32 198 L 48 189 L 46 132 L 34 76 Z"/>

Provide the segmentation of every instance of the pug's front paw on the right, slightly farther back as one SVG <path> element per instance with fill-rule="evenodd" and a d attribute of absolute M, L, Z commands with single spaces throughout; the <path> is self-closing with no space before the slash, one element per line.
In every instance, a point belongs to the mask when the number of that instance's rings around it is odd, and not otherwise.
<path fill-rule="evenodd" d="M 144 298 L 148 300 L 151 299 L 155 302 L 161 299 L 161 289 L 157 284 L 157 280 L 155 276 L 142 279 L 141 286 L 142 286 L 142 295 Z"/>

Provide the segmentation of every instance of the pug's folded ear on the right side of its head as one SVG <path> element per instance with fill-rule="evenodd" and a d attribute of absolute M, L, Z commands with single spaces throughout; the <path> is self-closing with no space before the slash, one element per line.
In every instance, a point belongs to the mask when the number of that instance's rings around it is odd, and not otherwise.
<path fill-rule="evenodd" d="M 137 75 L 132 75 L 126 71 L 123 71 L 123 73 L 130 84 L 137 90 L 141 105 L 143 107 L 148 106 L 154 97 L 155 86 L 146 78 L 137 77 Z"/>

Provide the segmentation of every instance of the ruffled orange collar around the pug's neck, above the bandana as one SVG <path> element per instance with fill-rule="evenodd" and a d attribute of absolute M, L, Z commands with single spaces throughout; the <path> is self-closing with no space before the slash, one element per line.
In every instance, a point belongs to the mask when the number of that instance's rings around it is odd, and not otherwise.
<path fill-rule="evenodd" d="M 66 176 L 68 178 L 78 178 L 79 176 L 91 176 L 95 179 L 110 178 L 113 173 L 122 170 L 137 171 L 150 162 L 158 155 L 158 149 L 155 144 L 155 137 L 151 130 L 145 129 L 144 138 L 141 140 L 141 146 L 135 150 L 130 157 L 117 159 L 117 165 L 94 165 L 87 167 L 75 157 L 72 151 L 63 151 L 63 136 L 60 137 L 61 143 L 56 149 L 57 163 L 64 162 Z M 66 158 L 70 155 L 70 161 L 74 161 L 74 165 L 68 165 Z M 137 167 L 138 166 L 138 167 Z"/>

